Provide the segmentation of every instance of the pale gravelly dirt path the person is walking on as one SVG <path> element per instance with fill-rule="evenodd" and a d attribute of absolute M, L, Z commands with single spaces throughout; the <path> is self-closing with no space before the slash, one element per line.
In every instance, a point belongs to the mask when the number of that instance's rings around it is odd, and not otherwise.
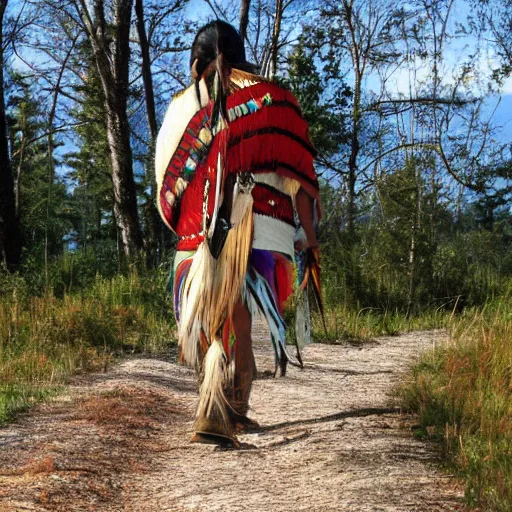
<path fill-rule="evenodd" d="M 464 510 L 387 392 L 441 332 L 312 345 L 306 368 L 255 383 L 246 449 L 191 445 L 193 373 L 128 360 L 0 430 L 0 511 Z M 260 370 L 273 368 L 259 340 Z M 249 445 L 253 447 L 250 448 Z"/>

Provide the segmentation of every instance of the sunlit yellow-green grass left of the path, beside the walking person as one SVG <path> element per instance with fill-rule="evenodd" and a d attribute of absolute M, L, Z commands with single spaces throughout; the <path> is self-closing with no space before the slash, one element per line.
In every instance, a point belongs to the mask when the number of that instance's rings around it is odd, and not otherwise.
<path fill-rule="evenodd" d="M 166 276 L 156 272 L 96 277 L 61 298 L 30 296 L 23 280 L 9 279 L 0 297 L 0 423 L 73 374 L 104 370 L 121 354 L 159 352 L 175 340 Z"/>

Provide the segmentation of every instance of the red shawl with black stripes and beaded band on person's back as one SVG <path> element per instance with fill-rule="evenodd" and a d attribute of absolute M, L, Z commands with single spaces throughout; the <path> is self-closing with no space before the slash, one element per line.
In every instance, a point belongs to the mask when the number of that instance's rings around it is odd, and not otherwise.
<path fill-rule="evenodd" d="M 213 137 L 212 107 L 210 101 L 188 123 L 160 189 L 161 212 L 179 237 L 178 250 L 195 250 L 204 239 L 203 203 L 211 216 L 219 154 L 225 173 L 275 172 L 298 181 L 312 198 L 319 197 L 316 152 L 291 92 L 264 81 L 235 90 L 227 98 L 228 126 Z M 290 196 L 263 183 L 252 194 L 255 213 L 294 225 Z"/>

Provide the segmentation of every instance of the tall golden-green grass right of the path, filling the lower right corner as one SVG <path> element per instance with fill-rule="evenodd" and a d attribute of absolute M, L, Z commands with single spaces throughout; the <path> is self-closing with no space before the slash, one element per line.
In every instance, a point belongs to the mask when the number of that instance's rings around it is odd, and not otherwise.
<path fill-rule="evenodd" d="M 419 433 L 443 443 L 470 505 L 512 510 L 512 307 L 467 311 L 451 341 L 426 354 L 399 389 Z"/>

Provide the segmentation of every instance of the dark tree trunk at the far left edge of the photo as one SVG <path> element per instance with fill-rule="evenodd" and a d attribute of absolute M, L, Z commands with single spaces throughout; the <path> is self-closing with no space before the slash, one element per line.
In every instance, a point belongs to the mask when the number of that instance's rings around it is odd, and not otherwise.
<path fill-rule="evenodd" d="M 3 23 L 7 0 L 0 0 L 0 261 L 9 269 L 20 262 L 21 234 L 14 200 L 14 180 L 7 143 L 4 98 Z"/>

